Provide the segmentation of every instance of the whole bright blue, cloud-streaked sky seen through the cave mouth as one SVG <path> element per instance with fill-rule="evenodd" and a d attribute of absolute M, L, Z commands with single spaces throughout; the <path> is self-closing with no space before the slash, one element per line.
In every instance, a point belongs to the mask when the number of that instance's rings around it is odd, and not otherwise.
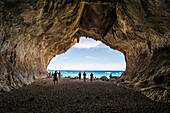
<path fill-rule="evenodd" d="M 126 69 L 123 53 L 101 41 L 81 37 L 80 42 L 65 53 L 56 55 L 48 65 L 50 70 L 122 70 Z"/>

